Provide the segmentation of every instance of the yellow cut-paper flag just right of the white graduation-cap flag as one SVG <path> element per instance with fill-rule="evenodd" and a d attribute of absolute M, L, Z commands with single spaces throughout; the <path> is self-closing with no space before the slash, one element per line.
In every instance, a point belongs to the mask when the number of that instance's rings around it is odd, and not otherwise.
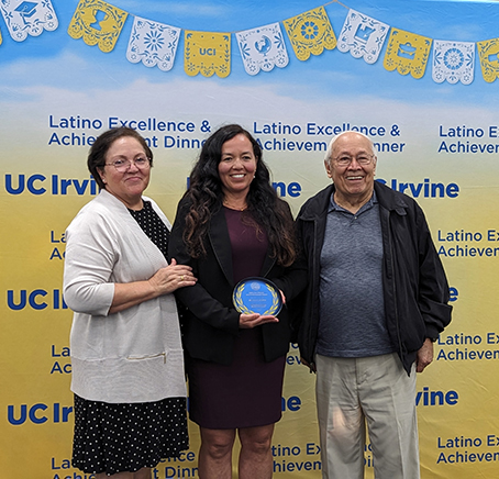
<path fill-rule="evenodd" d="M 108 53 L 114 48 L 127 15 L 124 10 L 101 0 L 80 0 L 67 33 Z"/>

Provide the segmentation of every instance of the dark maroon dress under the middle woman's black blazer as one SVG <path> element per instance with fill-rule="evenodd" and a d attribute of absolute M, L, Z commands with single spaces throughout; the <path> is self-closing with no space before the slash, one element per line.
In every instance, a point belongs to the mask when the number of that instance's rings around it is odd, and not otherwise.
<path fill-rule="evenodd" d="M 234 281 L 259 276 L 268 241 L 247 212 L 224 208 Z M 229 304 L 228 304 L 229 305 Z M 262 330 L 240 330 L 230 366 L 188 358 L 189 416 L 201 427 L 226 430 L 273 424 L 281 416 L 286 356 L 265 363 Z"/>

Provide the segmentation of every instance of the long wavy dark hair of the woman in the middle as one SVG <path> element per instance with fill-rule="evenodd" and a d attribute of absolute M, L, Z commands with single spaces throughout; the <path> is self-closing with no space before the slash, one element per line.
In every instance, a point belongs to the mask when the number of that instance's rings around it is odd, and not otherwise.
<path fill-rule="evenodd" d="M 267 233 L 273 257 L 282 266 L 290 266 L 297 256 L 295 225 L 289 209 L 277 197 L 270 185 L 270 172 L 262 159 L 262 148 L 255 138 L 237 124 L 222 126 L 204 143 L 192 171 L 190 187 L 185 197 L 190 198 L 191 207 L 186 215 L 184 241 L 193 258 L 206 256 L 207 237 L 211 215 L 222 208 L 224 193 L 219 176 L 222 159 L 222 145 L 234 136 L 243 134 L 253 145 L 256 158 L 255 178 L 246 197 L 247 211 L 256 222 L 256 227 Z"/>

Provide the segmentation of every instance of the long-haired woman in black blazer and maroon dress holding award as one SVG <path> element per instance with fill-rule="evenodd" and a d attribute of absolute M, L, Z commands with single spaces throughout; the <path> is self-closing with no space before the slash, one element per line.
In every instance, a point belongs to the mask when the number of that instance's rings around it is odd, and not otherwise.
<path fill-rule="evenodd" d="M 288 314 L 286 308 L 278 318 L 242 314 L 232 292 L 240 280 L 259 276 L 289 301 L 304 287 L 306 275 L 292 266 L 297 249 L 289 207 L 270 186 L 257 142 L 241 126 L 223 126 L 204 143 L 168 250 L 198 278 L 176 296 L 186 307 L 189 414 L 201 432 L 199 477 L 231 477 L 239 434 L 240 479 L 269 478 L 290 341 Z"/>

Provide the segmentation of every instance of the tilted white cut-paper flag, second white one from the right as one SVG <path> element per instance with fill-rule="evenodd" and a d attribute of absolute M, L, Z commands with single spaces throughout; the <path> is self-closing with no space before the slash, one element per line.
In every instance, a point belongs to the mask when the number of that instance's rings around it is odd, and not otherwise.
<path fill-rule="evenodd" d="M 368 64 L 378 60 L 390 26 L 355 10 L 350 10 L 337 41 L 337 49 L 350 51 L 354 58 Z"/>

